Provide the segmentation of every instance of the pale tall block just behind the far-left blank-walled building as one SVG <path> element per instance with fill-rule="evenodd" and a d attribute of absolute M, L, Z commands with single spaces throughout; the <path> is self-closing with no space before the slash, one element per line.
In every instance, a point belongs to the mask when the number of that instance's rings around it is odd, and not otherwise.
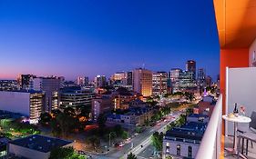
<path fill-rule="evenodd" d="M 46 94 L 44 111 L 51 112 L 59 106 L 60 78 L 56 76 L 38 77 L 33 79 L 33 89 Z"/>

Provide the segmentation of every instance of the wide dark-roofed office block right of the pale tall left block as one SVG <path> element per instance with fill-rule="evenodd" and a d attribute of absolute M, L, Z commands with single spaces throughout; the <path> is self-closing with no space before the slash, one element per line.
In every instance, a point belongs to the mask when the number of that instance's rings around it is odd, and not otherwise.
<path fill-rule="evenodd" d="M 94 93 L 82 90 L 80 87 L 65 88 L 60 93 L 60 107 L 90 106 L 94 98 Z"/>

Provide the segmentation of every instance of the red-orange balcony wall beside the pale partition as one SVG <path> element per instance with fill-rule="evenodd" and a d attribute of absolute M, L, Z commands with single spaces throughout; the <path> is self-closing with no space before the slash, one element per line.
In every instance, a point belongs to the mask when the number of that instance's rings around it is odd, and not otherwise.
<path fill-rule="evenodd" d="M 220 93 L 223 114 L 226 112 L 226 67 L 249 67 L 249 49 L 220 49 Z M 222 127 L 224 131 L 224 124 Z"/>

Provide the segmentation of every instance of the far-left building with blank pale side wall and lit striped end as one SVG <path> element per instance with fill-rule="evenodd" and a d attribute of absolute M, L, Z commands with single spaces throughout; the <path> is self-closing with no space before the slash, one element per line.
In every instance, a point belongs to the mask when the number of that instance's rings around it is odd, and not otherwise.
<path fill-rule="evenodd" d="M 24 114 L 30 124 L 37 124 L 43 112 L 45 94 L 42 91 L 0 91 L 1 110 Z"/>

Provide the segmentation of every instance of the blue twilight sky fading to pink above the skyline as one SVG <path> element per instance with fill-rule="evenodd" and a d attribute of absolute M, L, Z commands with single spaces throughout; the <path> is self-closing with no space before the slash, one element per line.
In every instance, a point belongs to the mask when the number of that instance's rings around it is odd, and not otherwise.
<path fill-rule="evenodd" d="M 111 75 L 197 61 L 219 74 L 211 0 L 0 1 L 0 79 Z"/>

